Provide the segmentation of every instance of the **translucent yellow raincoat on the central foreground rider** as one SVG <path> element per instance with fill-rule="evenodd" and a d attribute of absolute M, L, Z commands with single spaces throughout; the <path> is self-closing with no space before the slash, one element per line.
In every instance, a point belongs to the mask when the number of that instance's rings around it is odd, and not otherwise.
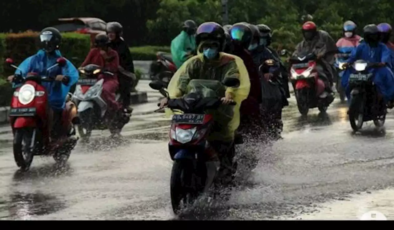
<path fill-rule="evenodd" d="M 204 84 L 206 80 L 211 80 L 210 82 L 221 82 L 226 77 L 237 77 L 240 80 L 240 86 L 238 88 L 224 87 L 225 93 L 220 95 L 220 97 L 224 97 L 225 94 L 230 93 L 236 105 L 224 105 L 226 107 L 224 111 L 229 113 L 220 113 L 218 114 L 219 116 L 214 116 L 214 119 L 218 122 L 221 122 L 221 120 L 226 120 L 227 122 L 224 124 L 225 126 L 221 126 L 221 130 L 215 130 L 210 133 L 208 137 L 209 141 L 234 140 L 234 132 L 240 124 L 240 105 L 247 98 L 250 90 L 249 75 L 242 59 L 235 55 L 220 52 L 218 61 L 205 62 L 203 54 L 198 53 L 196 56 L 188 59 L 177 70 L 167 87 L 171 99 L 180 98 L 197 89 L 191 86 L 192 81 L 199 80 L 199 83 L 194 84 L 194 86 L 197 86 L 200 83 Z M 207 87 L 209 87 L 209 84 L 207 84 Z M 204 86 L 197 90 L 203 88 Z M 167 115 L 171 115 L 173 111 L 166 109 L 166 113 Z"/>

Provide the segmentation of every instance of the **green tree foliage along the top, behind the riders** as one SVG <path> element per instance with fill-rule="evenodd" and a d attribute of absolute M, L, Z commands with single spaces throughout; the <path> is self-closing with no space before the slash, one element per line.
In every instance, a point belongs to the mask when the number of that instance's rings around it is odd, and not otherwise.
<path fill-rule="evenodd" d="M 294 49 L 302 40 L 301 16 L 310 14 L 319 29 L 337 40 L 347 20 L 358 24 L 359 32 L 366 24 L 392 23 L 394 1 L 390 0 L 229 0 L 230 24 L 264 23 L 273 30 L 273 47 Z M 156 44 L 168 45 L 180 32 L 184 20 L 197 23 L 221 23 L 221 0 L 160 0 L 156 18 L 148 20 L 150 36 L 156 34 Z"/>

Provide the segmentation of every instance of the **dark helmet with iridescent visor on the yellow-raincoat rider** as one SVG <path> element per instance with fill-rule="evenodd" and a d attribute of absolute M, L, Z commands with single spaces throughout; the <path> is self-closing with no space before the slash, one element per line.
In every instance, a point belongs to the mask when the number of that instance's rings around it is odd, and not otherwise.
<path fill-rule="evenodd" d="M 217 42 L 219 50 L 223 50 L 225 43 L 225 32 L 223 27 L 216 22 L 204 22 L 197 28 L 196 45 L 200 46 L 203 41 Z"/>

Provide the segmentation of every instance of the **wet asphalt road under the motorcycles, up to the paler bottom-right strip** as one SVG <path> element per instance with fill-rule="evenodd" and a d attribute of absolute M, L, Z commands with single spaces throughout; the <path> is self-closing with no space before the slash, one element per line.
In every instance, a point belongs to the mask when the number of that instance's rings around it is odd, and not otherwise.
<path fill-rule="evenodd" d="M 1 128 L 0 219 L 173 219 L 169 121 L 149 113 L 159 95 L 149 97 L 150 104 L 135 107 L 123 141 L 95 132 L 94 141 L 78 144 L 64 168 L 36 157 L 29 172 L 18 173 L 12 135 Z M 284 139 L 260 146 L 258 166 L 240 171 L 242 183 L 229 201 L 185 218 L 286 219 L 307 215 L 325 201 L 391 186 L 392 115 L 385 130 L 368 122 L 353 134 L 346 111 L 335 102 L 328 116 L 314 109 L 302 120 L 292 100 L 284 112 Z"/>

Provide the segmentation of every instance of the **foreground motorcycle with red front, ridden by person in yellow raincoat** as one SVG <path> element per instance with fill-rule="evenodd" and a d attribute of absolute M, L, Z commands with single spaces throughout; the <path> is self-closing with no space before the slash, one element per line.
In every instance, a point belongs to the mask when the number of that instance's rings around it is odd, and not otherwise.
<path fill-rule="evenodd" d="M 234 87 L 239 84 L 237 78 L 226 78 L 223 82 L 223 85 L 227 87 Z M 152 89 L 159 90 L 168 98 L 168 93 L 163 89 L 161 82 L 154 81 L 149 86 Z M 206 137 L 214 127 L 213 116 L 206 114 L 205 111 L 217 109 L 220 105 L 220 98 L 202 98 L 196 93 L 190 93 L 180 99 L 168 100 L 167 108 L 184 112 L 183 114 L 173 115 L 169 132 L 168 148 L 169 155 L 173 160 L 170 192 L 171 204 L 175 214 L 178 214 L 187 204 L 192 204 L 204 190 L 207 179 L 206 161 L 204 160 L 207 154 Z M 230 105 L 235 105 L 235 102 Z M 235 144 L 240 143 L 234 141 L 230 150 L 231 156 L 229 158 L 231 159 L 226 160 L 233 161 Z M 222 169 L 219 169 L 219 172 L 221 171 Z M 216 181 L 217 179 L 216 177 Z"/>

